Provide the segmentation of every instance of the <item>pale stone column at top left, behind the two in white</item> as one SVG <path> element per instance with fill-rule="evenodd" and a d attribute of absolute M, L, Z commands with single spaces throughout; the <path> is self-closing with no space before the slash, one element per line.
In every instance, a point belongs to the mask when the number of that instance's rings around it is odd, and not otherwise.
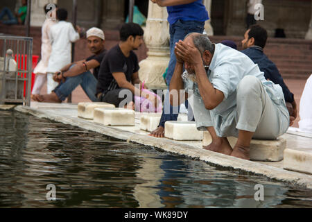
<path fill-rule="evenodd" d="M 47 3 L 58 3 L 58 0 L 32 0 L 31 1 L 31 26 L 42 26 L 46 19 L 44 6 Z"/>

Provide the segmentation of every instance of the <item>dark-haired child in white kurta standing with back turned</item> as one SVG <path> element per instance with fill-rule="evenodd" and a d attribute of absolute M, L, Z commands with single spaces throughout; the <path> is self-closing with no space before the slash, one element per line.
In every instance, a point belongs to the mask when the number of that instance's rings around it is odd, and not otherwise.
<path fill-rule="evenodd" d="M 70 22 L 66 22 L 67 10 L 58 8 L 56 11 L 58 23 L 51 27 L 49 37 L 52 51 L 47 68 L 48 94 L 58 86 L 53 80 L 53 74 L 65 65 L 71 63 L 71 43 L 79 40 L 79 34 Z"/>

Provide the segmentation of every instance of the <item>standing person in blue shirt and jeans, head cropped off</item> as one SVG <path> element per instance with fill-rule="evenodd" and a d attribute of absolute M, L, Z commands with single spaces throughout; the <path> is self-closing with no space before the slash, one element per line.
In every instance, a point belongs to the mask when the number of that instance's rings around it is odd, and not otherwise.
<path fill-rule="evenodd" d="M 202 4 L 202 0 L 151 0 L 160 7 L 166 7 L 168 12 L 168 22 L 170 24 L 170 61 L 166 76 L 166 83 L 170 85 L 173 71 L 177 59 L 175 58 L 175 43 L 184 40 L 189 33 L 202 33 L 205 21 L 209 19 L 208 12 Z M 165 110 L 168 113 L 165 112 Z M 150 133 L 153 137 L 164 137 L 164 126 L 166 121 L 176 121 L 178 116 L 177 107 L 170 105 L 169 95 L 166 94 L 164 108 L 159 126 Z"/>

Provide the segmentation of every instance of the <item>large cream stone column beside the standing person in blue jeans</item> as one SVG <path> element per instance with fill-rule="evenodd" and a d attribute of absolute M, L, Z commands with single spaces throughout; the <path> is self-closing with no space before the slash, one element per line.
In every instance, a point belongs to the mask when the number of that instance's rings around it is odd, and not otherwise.
<path fill-rule="evenodd" d="M 144 41 L 148 47 L 148 58 L 139 63 L 139 78 L 145 80 L 150 89 L 164 89 L 166 83 L 162 74 L 166 71 L 170 60 L 169 24 L 166 8 L 159 7 L 149 1 L 148 19 Z"/>

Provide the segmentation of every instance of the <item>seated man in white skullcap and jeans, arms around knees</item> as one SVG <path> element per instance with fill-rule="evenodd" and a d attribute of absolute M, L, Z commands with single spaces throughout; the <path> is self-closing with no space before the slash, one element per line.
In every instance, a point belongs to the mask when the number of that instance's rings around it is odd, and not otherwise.
<path fill-rule="evenodd" d="M 98 71 L 106 53 L 104 43 L 103 31 L 99 28 L 90 28 L 87 31 L 87 46 L 94 55 L 66 65 L 60 71 L 55 72 L 53 80 L 60 84 L 51 94 L 36 95 L 33 99 L 45 103 L 62 103 L 73 92 L 73 89 L 81 85 L 89 99 L 93 102 L 97 101 L 95 94 Z M 93 69 L 93 74 L 89 71 L 90 69 Z"/>

